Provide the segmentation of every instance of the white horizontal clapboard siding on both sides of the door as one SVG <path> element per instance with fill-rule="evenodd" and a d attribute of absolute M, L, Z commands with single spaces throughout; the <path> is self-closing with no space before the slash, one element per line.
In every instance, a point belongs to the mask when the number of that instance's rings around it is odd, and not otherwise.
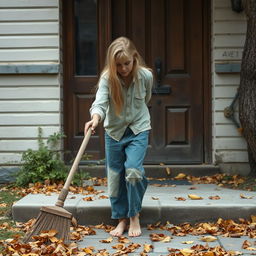
<path fill-rule="evenodd" d="M 39 126 L 45 138 L 62 129 L 60 13 L 59 0 L 0 0 L 0 183 L 17 170 L 22 152 L 37 148 Z M 246 143 L 224 117 L 239 86 L 233 71 L 246 19 L 231 10 L 230 0 L 212 0 L 211 17 L 213 163 L 247 174 Z"/>

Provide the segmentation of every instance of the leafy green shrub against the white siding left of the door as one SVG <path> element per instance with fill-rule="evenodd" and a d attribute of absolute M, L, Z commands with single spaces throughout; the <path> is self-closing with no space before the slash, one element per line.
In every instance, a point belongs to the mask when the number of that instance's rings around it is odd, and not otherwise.
<path fill-rule="evenodd" d="M 67 168 L 57 151 L 57 144 L 65 137 L 62 133 L 54 133 L 47 143 L 42 139 L 42 128 L 38 128 L 38 150 L 28 149 L 22 154 L 22 167 L 16 176 L 17 186 L 29 183 L 58 182 L 67 177 Z"/>

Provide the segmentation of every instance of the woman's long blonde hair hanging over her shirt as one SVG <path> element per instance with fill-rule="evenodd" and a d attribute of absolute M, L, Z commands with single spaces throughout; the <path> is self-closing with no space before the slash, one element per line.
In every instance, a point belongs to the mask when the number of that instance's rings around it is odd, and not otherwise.
<path fill-rule="evenodd" d="M 124 99 L 122 96 L 120 79 L 117 74 L 116 60 L 124 57 L 133 57 L 133 69 L 131 72 L 132 77 L 135 77 L 135 79 L 137 78 L 138 69 L 140 67 L 146 67 L 135 45 L 128 38 L 119 37 L 115 39 L 108 47 L 105 67 L 101 73 L 101 76 L 104 74 L 108 75 L 110 95 L 114 102 L 115 113 L 117 115 L 120 115 L 122 111 Z"/>

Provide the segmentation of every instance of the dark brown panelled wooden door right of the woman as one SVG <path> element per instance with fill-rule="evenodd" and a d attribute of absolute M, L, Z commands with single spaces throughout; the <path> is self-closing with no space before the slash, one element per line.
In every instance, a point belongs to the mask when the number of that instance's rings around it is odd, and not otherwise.
<path fill-rule="evenodd" d="M 149 65 L 161 61 L 160 86 L 170 86 L 171 93 L 151 100 L 149 163 L 203 161 L 203 16 L 202 1 L 195 2 L 151 0 Z"/>

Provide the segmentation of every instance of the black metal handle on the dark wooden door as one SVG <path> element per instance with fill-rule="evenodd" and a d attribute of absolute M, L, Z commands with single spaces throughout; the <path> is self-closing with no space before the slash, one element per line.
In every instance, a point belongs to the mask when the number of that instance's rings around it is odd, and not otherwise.
<path fill-rule="evenodd" d="M 170 94 L 171 86 L 162 85 L 162 61 L 160 58 L 157 58 L 155 61 L 155 71 L 156 71 L 156 83 L 152 88 L 153 94 Z"/>

